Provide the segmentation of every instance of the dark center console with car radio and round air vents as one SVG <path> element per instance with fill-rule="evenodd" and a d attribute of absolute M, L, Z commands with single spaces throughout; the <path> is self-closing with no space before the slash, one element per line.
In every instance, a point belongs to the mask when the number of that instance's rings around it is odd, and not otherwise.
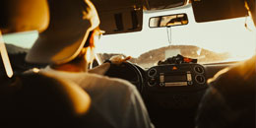
<path fill-rule="evenodd" d="M 145 75 L 142 96 L 155 125 L 194 126 L 198 104 L 208 88 L 206 68 L 196 63 L 166 64 L 151 67 Z"/>

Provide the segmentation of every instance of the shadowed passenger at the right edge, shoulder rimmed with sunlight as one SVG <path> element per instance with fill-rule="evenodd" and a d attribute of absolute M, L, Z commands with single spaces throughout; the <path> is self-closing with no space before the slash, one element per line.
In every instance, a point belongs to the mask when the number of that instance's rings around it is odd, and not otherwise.
<path fill-rule="evenodd" d="M 247 8 L 256 26 L 255 0 Z M 256 55 L 209 80 L 196 118 L 197 128 L 255 128 Z"/>

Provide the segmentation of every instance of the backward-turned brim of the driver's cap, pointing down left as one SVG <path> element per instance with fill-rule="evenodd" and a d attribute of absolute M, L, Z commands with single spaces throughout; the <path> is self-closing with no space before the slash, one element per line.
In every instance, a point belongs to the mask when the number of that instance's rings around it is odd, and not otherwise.
<path fill-rule="evenodd" d="M 65 34 L 56 36 L 40 34 L 26 56 L 26 60 L 32 63 L 66 63 L 79 54 L 88 34 L 89 31 L 72 37 Z"/>

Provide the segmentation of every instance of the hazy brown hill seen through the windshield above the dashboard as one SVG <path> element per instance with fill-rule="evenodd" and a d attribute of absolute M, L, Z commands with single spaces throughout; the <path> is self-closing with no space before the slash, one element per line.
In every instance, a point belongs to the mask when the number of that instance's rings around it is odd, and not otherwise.
<path fill-rule="evenodd" d="M 150 50 L 141 54 L 138 58 L 132 58 L 130 61 L 143 67 L 151 67 L 153 65 L 156 65 L 160 60 L 172 57 L 165 56 L 165 51 L 167 50 L 179 50 L 180 54 L 185 57 L 198 59 L 198 63 L 221 62 L 229 57 L 228 53 L 217 53 L 194 45 L 171 45 Z M 109 59 L 113 55 L 119 54 L 100 54 L 103 60 Z"/>

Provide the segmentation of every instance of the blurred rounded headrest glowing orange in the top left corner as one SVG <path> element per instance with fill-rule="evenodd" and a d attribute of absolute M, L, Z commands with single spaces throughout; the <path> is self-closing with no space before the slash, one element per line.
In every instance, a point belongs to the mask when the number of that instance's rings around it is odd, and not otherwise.
<path fill-rule="evenodd" d="M 49 22 L 46 0 L 1 0 L 0 30 L 8 32 L 44 31 Z"/>

